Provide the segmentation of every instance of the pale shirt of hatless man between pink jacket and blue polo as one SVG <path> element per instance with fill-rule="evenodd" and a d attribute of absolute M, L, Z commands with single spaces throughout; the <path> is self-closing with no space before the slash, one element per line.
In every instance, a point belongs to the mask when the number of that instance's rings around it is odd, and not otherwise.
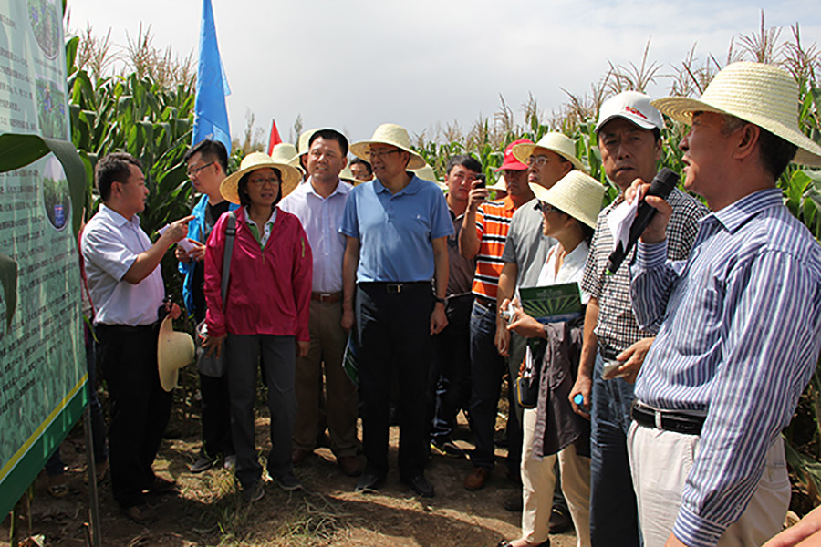
<path fill-rule="evenodd" d="M 300 184 L 289 193 L 279 208 L 290 212 L 302 222 L 302 227 L 311 244 L 314 258 L 313 283 L 315 293 L 338 293 L 342 290 L 342 256 L 345 253 L 345 236 L 339 233 L 342 213 L 353 186 L 339 181 L 337 188 L 323 198 L 311 180 Z"/>

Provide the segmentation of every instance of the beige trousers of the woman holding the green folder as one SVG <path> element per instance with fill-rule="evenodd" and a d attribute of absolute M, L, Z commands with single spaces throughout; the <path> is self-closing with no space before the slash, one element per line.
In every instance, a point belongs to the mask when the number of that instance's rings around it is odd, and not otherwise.
<path fill-rule="evenodd" d="M 562 493 L 565 494 L 570 516 L 576 525 L 578 547 L 590 545 L 590 459 L 579 456 L 570 445 L 557 455 L 543 459 L 533 455 L 536 409 L 527 408 L 523 418 L 525 438 L 522 442 L 522 538 L 529 543 L 547 540 L 550 530 L 550 511 L 553 509 L 553 490 L 556 488 L 556 457 L 562 474 Z"/>

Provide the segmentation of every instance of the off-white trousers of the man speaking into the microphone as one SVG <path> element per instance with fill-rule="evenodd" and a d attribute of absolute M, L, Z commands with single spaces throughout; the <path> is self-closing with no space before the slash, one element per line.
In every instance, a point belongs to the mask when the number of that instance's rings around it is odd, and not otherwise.
<path fill-rule="evenodd" d="M 681 508 L 681 491 L 698 455 L 697 435 L 685 435 L 633 422 L 628 433 L 630 469 L 639 501 L 645 547 L 662 547 Z M 738 521 L 722 535 L 719 547 L 761 545 L 781 531 L 790 504 L 784 441 L 767 451 L 764 474 Z"/>

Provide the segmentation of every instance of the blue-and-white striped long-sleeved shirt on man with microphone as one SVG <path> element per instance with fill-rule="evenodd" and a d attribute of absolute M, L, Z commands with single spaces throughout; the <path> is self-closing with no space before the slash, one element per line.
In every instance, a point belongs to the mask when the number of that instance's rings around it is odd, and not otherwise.
<path fill-rule="evenodd" d="M 673 532 L 712 546 L 736 521 L 795 411 L 821 346 L 821 246 L 758 191 L 701 219 L 688 261 L 639 243 L 630 269 L 642 328 L 660 324 L 636 397 L 706 412 Z"/>

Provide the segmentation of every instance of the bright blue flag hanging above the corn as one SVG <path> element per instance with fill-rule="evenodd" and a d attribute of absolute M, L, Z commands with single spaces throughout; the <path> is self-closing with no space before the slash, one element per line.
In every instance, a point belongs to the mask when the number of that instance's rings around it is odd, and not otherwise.
<path fill-rule="evenodd" d="M 231 153 L 231 130 L 228 128 L 228 110 L 225 108 L 225 96 L 230 94 L 220 47 L 216 41 L 211 0 L 203 0 L 192 145 L 203 139 L 219 140 Z"/>

